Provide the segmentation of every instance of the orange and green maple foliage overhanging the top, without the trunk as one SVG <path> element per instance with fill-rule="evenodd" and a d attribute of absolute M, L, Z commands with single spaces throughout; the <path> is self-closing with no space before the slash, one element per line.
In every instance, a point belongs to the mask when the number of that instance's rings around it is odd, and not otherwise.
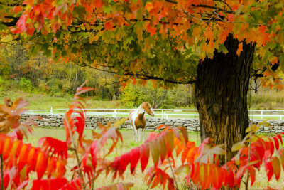
<path fill-rule="evenodd" d="M 256 73 L 266 67 L 262 74 L 276 79 L 283 71 L 271 70 L 284 62 L 281 0 L 14 0 L 0 8 L 1 34 L 21 38 L 31 53 L 126 78 L 192 83 L 200 59 L 227 52 L 229 33 L 238 55 L 243 41 L 256 43 Z"/>

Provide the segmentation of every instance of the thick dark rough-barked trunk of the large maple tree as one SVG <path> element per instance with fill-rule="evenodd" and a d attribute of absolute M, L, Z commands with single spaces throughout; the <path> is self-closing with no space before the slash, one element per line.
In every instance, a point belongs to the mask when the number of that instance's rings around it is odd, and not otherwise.
<path fill-rule="evenodd" d="M 249 127 L 247 93 L 255 45 L 243 41 L 244 51 L 238 56 L 239 43 L 230 34 L 224 42 L 229 53 L 215 51 L 213 59 L 200 62 L 195 87 L 201 139 L 212 137 L 214 144 L 226 141 L 228 160 L 234 157 L 232 145 L 245 137 Z"/>

